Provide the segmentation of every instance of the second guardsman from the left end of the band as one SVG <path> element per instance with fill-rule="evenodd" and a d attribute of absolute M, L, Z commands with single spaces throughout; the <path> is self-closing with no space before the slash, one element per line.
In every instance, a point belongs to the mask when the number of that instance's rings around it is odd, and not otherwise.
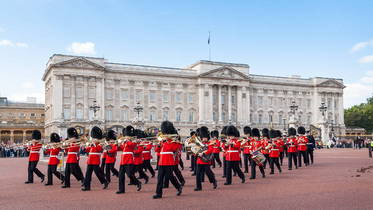
<path fill-rule="evenodd" d="M 57 133 L 51 133 L 50 141 L 51 143 L 59 143 L 60 136 Z M 65 176 L 61 175 L 60 172 L 57 171 L 57 166 L 60 163 L 60 156 L 59 156 L 60 151 L 61 151 L 61 147 L 50 147 L 47 151 L 45 151 L 45 154 L 50 154 L 49 161 L 48 161 L 48 182 L 44 184 L 45 186 L 53 185 L 52 173 L 59 180 L 61 180 L 61 184 L 65 182 Z"/>

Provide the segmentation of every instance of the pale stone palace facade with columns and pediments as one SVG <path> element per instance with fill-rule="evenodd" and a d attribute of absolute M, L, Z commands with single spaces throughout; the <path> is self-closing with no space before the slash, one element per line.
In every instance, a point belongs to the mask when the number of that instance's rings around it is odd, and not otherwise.
<path fill-rule="evenodd" d="M 197 61 L 183 69 L 109 63 L 105 58 L 53 55 L 44 72 L 45 132 L 58 132 L 61 120 L 69 126 L 86 127 L 93 115 L 93 99 L 102 126 L 131 124 L 139 101 L 146 126 L 160 126 L 164 119 L 179 133 L 206 125 L 220 130 L 231 122 L 242 132 L 251 125 L 283 129 L 283 118 L 293 112 L 303 126 L 322 117 L 334 120 L 335 134 L 345 134 L 342 79 L 299 76 L 251 75 L 249 65 Z M 61 117 L 63 113 L 63 118 Z M 231 119 L 231 120 L 229 120 Z M 307 128 L 306 128 L 307 129 Z"/>

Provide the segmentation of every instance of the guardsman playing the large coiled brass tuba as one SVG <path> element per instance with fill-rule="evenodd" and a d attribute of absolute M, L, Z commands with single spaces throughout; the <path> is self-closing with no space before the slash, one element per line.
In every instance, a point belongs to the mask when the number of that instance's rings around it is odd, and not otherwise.
<path fill-rule="evenodd" d="M 199 131 L 200 131 L 200 137 L 202 138 L 202 141 L 207 142 L 210 139 L 210 132 L 208 131 L 208 128 L 206 126 L 202 126 L 200 127 Z M 210 181 L 210 183 L 213 184 L 213 188 L 215 189 L 217 187 L 217 180 L 215 179 L 214 173 L 210 169 L 211 162 L 204 162 L 200 159 L 200 157 L 206 156 L 212 153 L 213 145 L 214 145 L 214 142 L 209 143 L 208 149 L 206 151 L 203 151 L 197 154 L 197 157 L 198 157 L 197 158 L 197 172 L 195 176 L 196 188 L 194 188 L 194 191 L 202 190 L 202 184 L 201 184 L 201 169 L 202 168 L 208 180 Z"/>

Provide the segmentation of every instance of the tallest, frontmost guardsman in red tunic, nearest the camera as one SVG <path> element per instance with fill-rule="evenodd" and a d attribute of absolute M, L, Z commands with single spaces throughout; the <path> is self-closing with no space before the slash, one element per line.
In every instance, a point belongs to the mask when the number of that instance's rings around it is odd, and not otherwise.
<path fill-rule="evenodd" d="M 161 124 L 161 132 L 163 135 L 174 134 L 175 127 L 169 121 L 163 121 Z M 173 176 L 173 166 L 175 165 L 174 152 L 179 149 L 179 145 L 167 136 L 163 137 L 162 142 L 157 144 L 157 150 L 160 151 L 160 158 L 158 163 L 158 180 L 157 180 L 157 190 L 156 195 L 153 199 L 162 198 L 162 187 L 165 177 L 169 179 L 172 185 L 178 190 L 177 196 L 182 194 L 183 187 Z"/>

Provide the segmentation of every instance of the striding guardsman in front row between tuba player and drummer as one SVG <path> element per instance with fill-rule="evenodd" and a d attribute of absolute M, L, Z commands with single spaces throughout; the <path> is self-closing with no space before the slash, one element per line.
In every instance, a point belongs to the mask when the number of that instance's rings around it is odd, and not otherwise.
<path fill-rule="evenodd" d="M 245 182 L 245 175 L 242 173 L 239 167 L 239 160 L 240 160 L 240 151 L 241 151 L 241 140 L 236 138 L 237 135 L 237 128 L 233 125 L 229 125 L 226 130 L 227 133 L 227 172 L 226 172 L 226 182 L 224 185 L 231 185 L 232 184 L 232 169 L 237 172 L 238 176 L 242 179 L 242 183 Z"/>

